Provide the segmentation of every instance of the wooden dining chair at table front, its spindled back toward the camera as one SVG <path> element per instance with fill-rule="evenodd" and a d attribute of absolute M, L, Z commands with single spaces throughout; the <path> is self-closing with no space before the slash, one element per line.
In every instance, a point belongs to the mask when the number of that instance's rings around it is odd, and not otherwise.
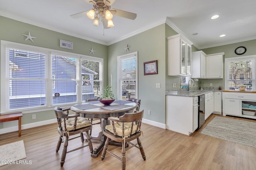
<path fill-rule="evenodd" d="M 125 113 L 120 117 L 109 117 L 108 119 L 111 121 L 111 125 L 106 125 L 103 134 L 107 137 L 104 149 L 102 151 L 101 159 L 104 160 L 106 152 L 111 154 L 112 156 L 118 158 L 122 161 L 122 170 L 125 170 L 126 167 L 126 150 L 136 147 L 140 149 L 140 153 L 142 158 L 146 160 L 146 156 L 144 153 L 144 149 L 142 147 L 141 141 L 139 139 L 142 134 L 141 131 L 141 121 L 143 117 L 144 110 L 134 111 L 134 113 Z M 138 122 L 138 125 L 136 123 Z M 122 157 L 113 154 L 108 150 L 109 140 L 116 141 L 122 143 Z M 137 143 L 134 144 L 131 141 L 137 139 Z M 129 143 L 130 146 L 125 148 L 126 143 Z M 138 145 L 138 146 L 137 146 Z"/>

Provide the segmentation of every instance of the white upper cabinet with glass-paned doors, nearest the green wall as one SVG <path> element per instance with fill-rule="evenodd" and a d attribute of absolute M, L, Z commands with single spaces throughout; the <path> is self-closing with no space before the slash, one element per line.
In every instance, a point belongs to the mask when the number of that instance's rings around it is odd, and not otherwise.
<path fill-rule="evenodd" d="M 191 75 L 191 45 L 186 37 L 177 34 L 168 40 L 168 76 Z"/>

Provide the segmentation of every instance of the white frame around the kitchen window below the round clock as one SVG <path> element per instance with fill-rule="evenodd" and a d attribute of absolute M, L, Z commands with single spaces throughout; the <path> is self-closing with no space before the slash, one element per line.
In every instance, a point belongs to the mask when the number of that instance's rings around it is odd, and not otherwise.
<path fill-rule="evenodd" d="M 229 63 L 233 61 L 244 61 L 244 60 L 252 60 L 254 67 L 252 68 L 252 91 L 256 89 L 255 84 L 255 75 L 256 75 L 256 55 L 248 55 L 242 57 L 231 57 L 225 59 L 225 90 L 229 90 Z"/>

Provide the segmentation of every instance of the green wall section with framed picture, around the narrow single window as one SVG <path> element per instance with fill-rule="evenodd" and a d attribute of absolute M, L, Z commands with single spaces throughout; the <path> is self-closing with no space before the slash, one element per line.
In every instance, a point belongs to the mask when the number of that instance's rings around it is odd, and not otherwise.
<path fill-rule="evenodd" d="M 108 75 L 113 78 L 113 90 L 117 87 L 117 56 L 138 51 L 138 98 L 144 119 L 165 123 L 165 75 L 166 75 L 166 35 L 165 24 L 159 25 L 108 47 Z M 130 51 L 124 50 L 126 45 Z M 158 61 L 158 74 L 144 75 L 144 62 Z M 110 79 L 108 80 L 110 82 Z M 161 88 L 156 88 L 156 83 Z M 148 110 L 151 115 L 148 115 Z"/>

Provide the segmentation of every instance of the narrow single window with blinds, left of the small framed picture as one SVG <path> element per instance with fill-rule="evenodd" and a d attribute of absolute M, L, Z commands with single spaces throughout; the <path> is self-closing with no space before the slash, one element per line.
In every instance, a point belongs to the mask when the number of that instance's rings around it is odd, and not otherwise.
<path fill-rule="evenodd" d="M 118 56 L 118 100 L 138 98 L 138 53 Z"/>

